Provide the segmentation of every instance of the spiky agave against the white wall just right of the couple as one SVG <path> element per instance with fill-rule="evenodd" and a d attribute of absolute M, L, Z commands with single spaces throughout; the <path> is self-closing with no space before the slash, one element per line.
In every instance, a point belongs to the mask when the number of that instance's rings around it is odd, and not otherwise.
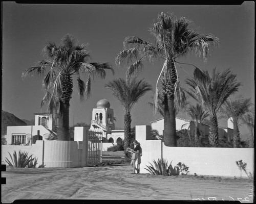
<path fill-rule="evenodd" d="M 150 163 L 150 162 L 148 162 Z M 168 165 L 166 159 L 158 159 L 157 161 L 153 160 L 153 164 L 150 163 L 150 166 L 147 166 L 146 169 L 153 175 L 179 175 L 180 172 L 177 167 L 172 166 L 172 162 Z"/>

